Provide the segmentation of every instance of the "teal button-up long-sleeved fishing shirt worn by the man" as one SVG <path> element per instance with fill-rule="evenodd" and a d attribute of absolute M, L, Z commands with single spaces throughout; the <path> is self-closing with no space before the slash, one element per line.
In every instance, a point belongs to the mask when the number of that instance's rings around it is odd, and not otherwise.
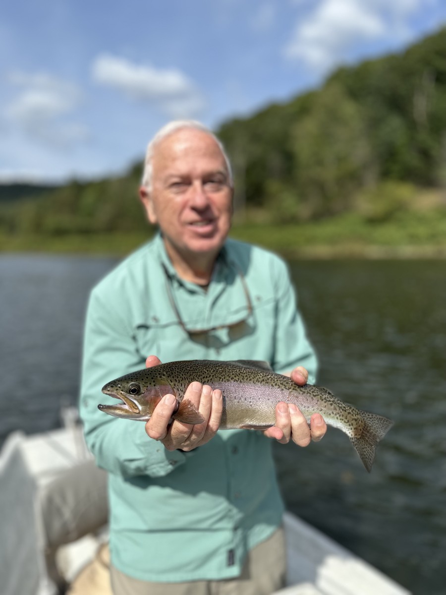
<path fill-rule="evenodd" d="M 215 330 L 190 337 L 171 299 L 186 328 Z M 143 423 L 99 411 L 98 403 L 115 403 L 103 384 L 143 368 L 151 354 L 258 359 L 277 372 L 303 365 L 313 383 L 316 358 L 284 262 L 227 240 L 205 290 L 178 277 L 158 235 L 100 281 L 87 310 L 80 412 L 87 444 L 109 472 L 112 564 L 146 581 L 236 577 L 246 553 L 281 524 L 272 440 L 219 430 L 191 452 L 169 452 Z"/>

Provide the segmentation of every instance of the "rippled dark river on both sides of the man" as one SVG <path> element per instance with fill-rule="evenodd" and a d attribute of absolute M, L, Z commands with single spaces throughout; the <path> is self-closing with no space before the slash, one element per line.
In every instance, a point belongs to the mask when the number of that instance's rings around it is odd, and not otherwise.
<path fill-rule="evenodd" d="M 0 444 L 76 403 L 90 287 L 113 258 L 0 255 Z M 277 444 L 288 509 L 416 595 L 446 585 L 446 263 L 295 261 L 318 383 L 395 426 L 367 474 L 344 434 Z"/>

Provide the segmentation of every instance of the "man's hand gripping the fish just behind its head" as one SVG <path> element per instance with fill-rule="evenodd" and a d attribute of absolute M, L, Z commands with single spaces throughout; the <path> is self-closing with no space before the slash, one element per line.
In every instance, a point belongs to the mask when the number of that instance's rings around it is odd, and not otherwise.
<path fill-rule="evenodd" d="M 161 361 L 155 355 L 149 355 L 146 359 L 147 368 L 158 364 L 161 364 Z M 223 409 L 221 390 L 212 390 L 207 384 L 193 382 L 187 387 L 184 398 L 196 406 L 206 421 L 192 425 L 175 419 L 169 424 L 177 399 L 173 394 L 165 394 L 146 423 L 147 436 L 162 442 L 167 450 L 193 450 L 206 444 L 220 425 Z"/>

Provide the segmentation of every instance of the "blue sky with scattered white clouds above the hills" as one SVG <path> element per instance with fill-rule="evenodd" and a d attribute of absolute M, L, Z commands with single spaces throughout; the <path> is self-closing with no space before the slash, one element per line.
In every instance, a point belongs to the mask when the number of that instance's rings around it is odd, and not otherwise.
<path fill-rule="evenodd" d="M 445 23 L 445 0 L 3 2 L 0 182 L 118 176 L 169 120 L 217 129 Z"/>

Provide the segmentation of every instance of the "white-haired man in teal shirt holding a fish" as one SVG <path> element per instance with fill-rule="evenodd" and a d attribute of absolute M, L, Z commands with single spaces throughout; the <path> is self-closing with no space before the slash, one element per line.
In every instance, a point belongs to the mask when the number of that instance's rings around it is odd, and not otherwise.
<path fill-rule="evenodd" d="M 265 432 L 218 431 L 221 392 L 197 382 L 187 397 L 206 420 L 199 425 L 169 424 L 169 394 L 145 427 L 97 405 L 106 381 L 145 362 L 257 359 L 298 384 L 314 381 L 287 268 L 227 239 L 230 165 L 199 123 L 173 122 L 155 136 L 140 198 L 160 234 L 93 289 L 84 339 L 81 416 L 109 471 L 112 587 L 116 595 L 271 593 L 285 559 L 269 439 L 306 446 L 325 433 L 322 417 L 309 427 L 279 403 Z"/>

